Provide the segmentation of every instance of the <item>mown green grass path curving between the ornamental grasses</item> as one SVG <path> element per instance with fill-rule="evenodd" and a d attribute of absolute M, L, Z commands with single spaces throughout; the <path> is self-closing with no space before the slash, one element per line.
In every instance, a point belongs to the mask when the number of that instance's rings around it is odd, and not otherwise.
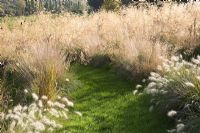
<path fill-rule="evenodd" d="M 72 68 L 78 89 L 71 91 L 74 110 L 65 128 L 72 133 L 165 133 L 172 121 L 149 112 L 149 97 L 133 95 L 135 84 L 109 68 L 75 65 Z"/>

